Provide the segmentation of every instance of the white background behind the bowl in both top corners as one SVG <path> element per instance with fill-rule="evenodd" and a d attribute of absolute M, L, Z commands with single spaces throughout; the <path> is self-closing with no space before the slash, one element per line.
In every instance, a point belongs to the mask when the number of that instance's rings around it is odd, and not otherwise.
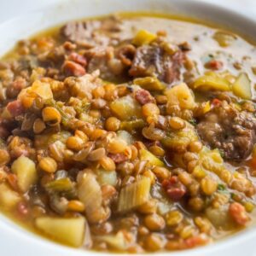
<path fill-rule="evenodd" d="M 61 3 L 63 0 L 0 0 L 0 22 L 33 9 L 40 9 L 50 3 Z M 120 0 L 129 1 L 129 0 Z M 139 1 L 139 0 L 137 0 Z M 157 1 L 157 0 L 156 0 Z M 168 1 L 168 0 L 166 0 Z M 182 0 L 180 0 L 182 1 Z M 218 3 L 236 9 L 247 15 L 256 15 L 256 0 L 197 0 Z"/>

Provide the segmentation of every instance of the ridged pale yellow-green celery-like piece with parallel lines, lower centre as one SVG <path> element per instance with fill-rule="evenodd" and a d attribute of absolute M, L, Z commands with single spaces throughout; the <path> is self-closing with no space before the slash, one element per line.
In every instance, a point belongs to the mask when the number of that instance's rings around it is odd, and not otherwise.
<path fill-rule="evenodd" d="M 149 200 L 150 179 L 142 177 L 126 185 L 119 194 L 118 212 L 128 212 Z"/>

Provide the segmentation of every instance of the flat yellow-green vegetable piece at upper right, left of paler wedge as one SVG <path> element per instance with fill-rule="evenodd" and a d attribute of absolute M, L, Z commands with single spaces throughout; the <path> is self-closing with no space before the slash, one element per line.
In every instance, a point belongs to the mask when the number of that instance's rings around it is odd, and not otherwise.
<path fill-rule="evenodd" d="M 230 90 L 230 82 L 216 73 L 208 73 L 195 80 L 193 88 L 197 90 Z"/>

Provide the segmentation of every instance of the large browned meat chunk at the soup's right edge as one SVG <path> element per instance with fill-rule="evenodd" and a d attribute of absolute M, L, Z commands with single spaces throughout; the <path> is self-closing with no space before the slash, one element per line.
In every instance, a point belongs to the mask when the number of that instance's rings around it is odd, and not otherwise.
<path fill-rule="evenodd" d="M 197 125 L 203 143 L 221 149 L 228 160 L 243 160 L 251 154 L 255 129 L 256 119 L 252 113 L 239 112 L 227 102 L 212 108 Z"/>

